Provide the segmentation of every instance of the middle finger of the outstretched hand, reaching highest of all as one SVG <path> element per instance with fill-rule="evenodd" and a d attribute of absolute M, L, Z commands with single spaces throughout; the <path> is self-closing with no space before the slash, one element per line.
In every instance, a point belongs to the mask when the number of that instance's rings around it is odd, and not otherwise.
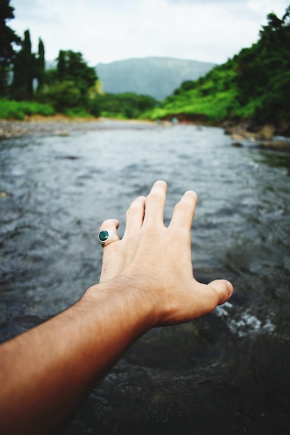
<path fill-rule="evenodd" d="M 166 203 L 167 184 L 165 181 L 155 181 L 150 194 L 145 199 L 144 224 L 163 224 L 164 207 Z"/>

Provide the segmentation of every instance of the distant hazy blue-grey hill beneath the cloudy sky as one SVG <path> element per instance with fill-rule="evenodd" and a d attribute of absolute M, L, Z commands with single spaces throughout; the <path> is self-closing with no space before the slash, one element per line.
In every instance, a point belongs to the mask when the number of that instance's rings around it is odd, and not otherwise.
<path fill-rule="evenodd" d="M 162 100 L 183 81 L 196 80 L 214 66 L 198 60 L 148 57 L 98 63 L 96 69 L 104 92 L 136 92 Z"/>

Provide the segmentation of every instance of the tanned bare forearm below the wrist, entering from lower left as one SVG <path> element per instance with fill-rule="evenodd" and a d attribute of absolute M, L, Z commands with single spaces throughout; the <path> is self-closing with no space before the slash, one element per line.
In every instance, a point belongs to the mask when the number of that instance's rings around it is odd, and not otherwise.
<path fill-rule="evenodd" d="M 67 311 L 2 345 L 0 432 L 55 433 L 150 327 L 143 308 L 130 290 L 99 284 Z"/>

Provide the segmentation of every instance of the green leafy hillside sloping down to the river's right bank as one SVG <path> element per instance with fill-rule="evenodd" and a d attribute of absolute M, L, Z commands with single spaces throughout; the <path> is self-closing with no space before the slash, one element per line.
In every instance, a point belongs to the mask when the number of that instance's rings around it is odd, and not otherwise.
<path fill-rule="evenodd" d="M 185 81 L 150 114 L 218 122 L 290 120 L 290 6 L 268 15 L 259 41 L 196 81 Z"/>

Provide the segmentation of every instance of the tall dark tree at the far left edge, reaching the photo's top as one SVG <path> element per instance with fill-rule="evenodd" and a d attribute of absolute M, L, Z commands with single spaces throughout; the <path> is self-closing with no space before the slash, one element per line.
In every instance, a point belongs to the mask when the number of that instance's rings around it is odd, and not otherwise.
<path fill-rule="evenodd" d="M 0 97 L 8 93 L 10 67 L 15 57 L 14 44 L 20 43 L 19 36 L 6 25 L 6 21 L 14 18 L 14 8 L 10 0 L 0 0 Z"/>

